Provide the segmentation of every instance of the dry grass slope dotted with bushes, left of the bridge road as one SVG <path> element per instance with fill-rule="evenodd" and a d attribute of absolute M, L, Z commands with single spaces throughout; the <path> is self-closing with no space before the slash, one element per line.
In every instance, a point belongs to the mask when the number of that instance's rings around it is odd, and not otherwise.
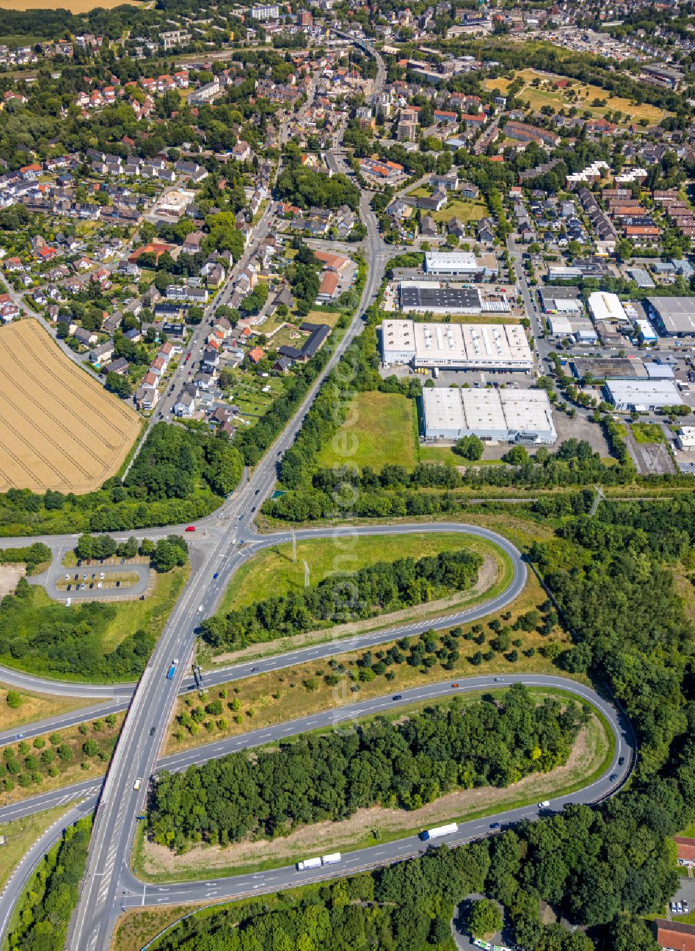
<path fill-rule="evenodd" d="M 124 717 L 114 713 L 3 747 L 0 794 L 5 804 L 103 776 Z"/>

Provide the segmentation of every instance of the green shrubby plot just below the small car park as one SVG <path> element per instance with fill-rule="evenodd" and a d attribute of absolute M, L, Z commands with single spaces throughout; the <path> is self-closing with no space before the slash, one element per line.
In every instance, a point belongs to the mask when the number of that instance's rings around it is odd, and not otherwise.
<path fill-rule="evenodd" d="M 118 615 L 114 604 L 86 601 L 66 608 L 45 603 L 43 590 L 20 578 L 14 594 L 0 601 L 0 662 L 48 676 L 87 680 L 136 679 L 154 649 L 147 631 L 129 634 L 105 653 L 102 637 Z"/>

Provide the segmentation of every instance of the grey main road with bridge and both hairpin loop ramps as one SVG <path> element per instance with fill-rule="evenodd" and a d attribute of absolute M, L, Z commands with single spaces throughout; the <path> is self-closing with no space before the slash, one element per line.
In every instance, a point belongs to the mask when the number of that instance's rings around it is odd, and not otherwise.
<path fill-rule="evenodd" d="M 383 62 L 373 49 L 367 50 L 376 55 L 378 71 L 375 89 L 383 85 L 385 72 Z M 349 171 L 339 152 L 339 139 L 336 149 L 330 156 L 332 167 Z M 462 680 L 456 688 L 451 683 L 428 684 L 424 687 L 404 690 L 398 700 L 390 695 L 372 700 L 358 701 L 349 706 L 339 707 L 302 717 L 290 723 L 276 727 L 255 730 L 241 736 L 218 741 L 197 749 L 160 758 L 164 745 L 164 734 L 171 711 L 179 693 L 192 689 L 192 679 L 186 676 L 196 641 L 196 631 L 203 618 L 212 614 L 227 587 L 232 575 L 254 553 L 264 547 L 277 545 L 290 540 L 290 533 L 259 535 L 253 522 L 261 502 L 271 495 L 277 479 L 277 469 L 281 456 L 292 445 L 299 432 L 302 420 L 311 406 L 319 387 L 326 375 L 336 365 L 348 344 L 360 333 L 362 315 L 372 301 L 376 299 L 384 267 L 393 249 L 383 243 L 378 233 L 376 216 L 370 204 L 369 195 L 362 192 L 360 214 L 366 225 L 367 237 L 363 248 L 368 263 L 367 280 L 357 314 L 345 336 L 340 340 L 331 359 L 319 378 L 311 387 L 299 410 L 284 429 L 275 444 L 255 467 L 253 474 L 247 477 L 237 492 L 228 498 L 222 509 L 216 514 L 196 523 L 196 534 L 191 546 L 191 575 L 188 584 L 171 611 L 164 632 L 153 651 L 143 676 L 137 685 L 85 685 L 68 682 L 42 680 L 16 670 L 0 669 L 0 679 L 19 689 L 43 690 L 69 696 L 92 697 L 98 706 L 83 708 L 66 716 L 53 717 L 41 723 L 22 728 L 23 735 L 38 735 L 47 729 L 65 728 L 81 722 L 88 717 L 103 716 L 107 712 L 127 709 L 124 727 L 114 750 L 104 782 L 88 781 L 68 788 L 35 796 L 16 805 L 0 808 L 0 823 L 10 819 L 41 811 L 50 805 L 68 803 L 73 799 L 76 805 L 70 808 L 63 820 L 56 823 L 32 846 L 10 879 L 0 896 L 0 941 L 15 903 L 29 881 L 30 875 L 50 844 L 57 841 L 62 830 L 74 823 L 80 815 L 87 814 L 96 805 L 93 832 L 87 860 L 87 875 L 83 883 L 80 902 L 73 918 L 68 935 L 68 946 L 73 951 L 101 951 L 109 946 L 111 933 L 118 915 L 125 908 L 156 905 L 167 902 L 217 901 L 224 898 L 254 895 L 264 891 L 276 891 L 299 883 L 314 881 L 321 877 L 335 877 L 337 874 L 355 872 L 359 868 L 387 864 L 417 854 L 422 844 L 415 836 L 405 837 L 389 844 L 380 844 L 371 848 L 348 852 L 339 866 L 313 869 L 307 875 L 301 875 L 294 866 L 274 869 L 263 873 L 249 873 L 231 878 L 214 879 L 205 882 L 187 882 L 171 885 L 146 885 L 130 870 L 130 849 L 137 825 L 137 816 L 145 805 L 146 779 L 154 775 L 157 768 L 182 769 L 192 764 L 219 757 L 235 750 L 259 746 L 273 740 L 286 739 L 307 729 L 330 727 L 331 725 L 351 721 L 357 716 L 393 708 L 395 704 L 412 703 L 443 695 L 492 688 L 488 677 L 471 677 Z M 267 222 L 263 220 L 267 227 Z M 263 224 L 261 223 L 261 224 Z M 223 295 L 220 300 L 223 301 Z M 167 410 L 164 402 L 162 412 Z M 183 531 L 183 526 L 165 529 L 150 529 L 143 536 L 157 537 L 171 532 Z M 427 628 L 446 628 L 461 621 L 471 621 L 491 611 L 499 610 L 509 604 L 521 592 L 526 582 L 526 565 L 520 553 L 505 538 L 488 530 L 466 526 L 460 523 L 436 524 L 395 524 L 359 527 L 350 530 L 320 528 L 298 531 L 297 539 L 319 538 L 333 535 L 376 535 L 406 534 L 413 532 L 461 532 L 475 534 L 492 540 L 501 547 L 512 560 L 512 580 L 504 592 L 473 608 L 456 611 L 436 619 L 428 618 L 398 628 L 360 634 L 349 639 L 329 640 L 326 643 L 311 645 L 292 650 L 288 653 L 261 658 L 253 662 L 244 662 L 231 668 L 205 672 L 205 687 L 249 677 L 252 673 L 279 670 L 306 660 L 325 659 Z M 121 535 L 116 534 L 119 538 Z M 52 536 L 41 539 L 52 549 L 55 555 L 61 549 L 74 547 L 76 536 Z M 4 545 L 26 544 L 26 539 L 4 539 Z M 57 560 L 60 564 L 60 559 Z M 215 577 L 213 577 L 215 575 Z M 179 658 L 173 680 L 166 679 L 173 658 Z M 253 667 L 253 671 L 251 668 Z M 622 714 L 595 691 L 563 677 L 510 675 L 505 683 L 521 681 L 531 686 L 561 688 L 576 694 L 580 699 L 598 708 L 606 717 L 615 738 L 615 756 L 606 774 L 592 786 L 578 790 L 563 797 L 562 803 L 552 804 L 561 808 L 569 802 L 593 803 L 608 796 L 625 781 L 634 758 L 634 740 L 631 729 Z M 154 732 L 150 735 L 150 731 Z M 14 741 L 16 733 L 0 733 L 0 746 Z M 618 767 L 618 757 L 624 763 Z M 609 775 L 615 774 L 611 781 Z M 136 778 L 145 777 L 139 791 L 134 790 Z M 475 836 L 490 831 L 492 818 L 502 825 L 518 822 L 523 818 L 535 818 L 538 807 L 523 807 L 503 811 L 495 817 L 474 819 L 459 826 L 458 833 L 446 841 L 451 844 L 468 841 Z"/>

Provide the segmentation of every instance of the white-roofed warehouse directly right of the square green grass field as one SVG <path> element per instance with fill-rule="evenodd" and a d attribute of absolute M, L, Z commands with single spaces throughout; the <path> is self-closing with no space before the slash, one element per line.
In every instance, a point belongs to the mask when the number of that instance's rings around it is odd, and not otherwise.
<path fill-rule="evenodd" d="M 422 391 L 422 409 L 426 439 L 478 436 L 533 444 L 557 438 L 545 390 L 434 387 Z"/>

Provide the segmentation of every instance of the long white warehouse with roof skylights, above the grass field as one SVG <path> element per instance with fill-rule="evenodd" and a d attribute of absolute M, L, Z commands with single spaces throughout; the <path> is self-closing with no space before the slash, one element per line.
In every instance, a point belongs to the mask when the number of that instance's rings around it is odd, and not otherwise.
<path fill-rule="evenodd" d="M 384 366 L 406 364 L 443 370 L 516 370 L 533 367 L 524 328 L 517 323 L 417 323 L 384 320 Z"/>

